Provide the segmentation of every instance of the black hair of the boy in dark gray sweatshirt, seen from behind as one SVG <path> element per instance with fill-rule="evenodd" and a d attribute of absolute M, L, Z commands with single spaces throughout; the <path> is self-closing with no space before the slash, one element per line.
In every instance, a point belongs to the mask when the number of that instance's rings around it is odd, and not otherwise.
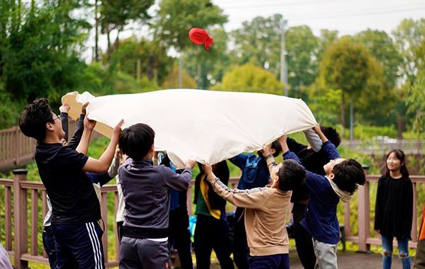
<path fill-rule="evenodd" d="M 137 123 L 125 128 L 118 143 L 124 154 L 134 160 L 143 159 L 154 144 L 155 132 L 149 125 Z"/>

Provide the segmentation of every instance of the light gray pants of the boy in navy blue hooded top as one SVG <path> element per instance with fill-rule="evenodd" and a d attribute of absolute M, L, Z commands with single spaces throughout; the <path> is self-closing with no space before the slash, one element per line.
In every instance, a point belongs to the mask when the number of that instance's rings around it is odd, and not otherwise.
<path fill-rule="evenodd" d="M 336 260 L 338 245 L 326 244 L 314 238 L 312 240 L 314 255 L 316 256 L 314 269 L 338 269 L 338 262 Z"/>

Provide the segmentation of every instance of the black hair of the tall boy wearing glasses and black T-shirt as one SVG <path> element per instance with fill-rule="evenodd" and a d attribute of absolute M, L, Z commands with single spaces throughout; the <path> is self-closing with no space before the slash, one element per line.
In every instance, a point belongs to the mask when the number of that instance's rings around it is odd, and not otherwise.
<path fill-rule="evenodd" d="M 53 122 L 52 108 L 47 98 L 35 99 L 19 115 L 19 128 L 23 135 L 41 142 L 46 137 L 46 124 Z"/>

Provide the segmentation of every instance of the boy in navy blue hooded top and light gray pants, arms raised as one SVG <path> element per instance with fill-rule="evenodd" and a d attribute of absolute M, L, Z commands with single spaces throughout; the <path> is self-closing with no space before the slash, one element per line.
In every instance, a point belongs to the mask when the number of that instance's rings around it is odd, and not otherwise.
<path fill-rule="evenodd" d="M 319 125 L 314 132 L 322 139 L 322 149 L 329 157 L 329 163 L 323 166 L 326 176 L 306 170 L 305 183 L 310 190 L 305 218 L 301 225 L 312 236 L 316 268 L 338 268 L 336 249 L 339 241 L 339 223 L 336 218 L 336 206 L 339 199 L 348 202 L 358 185 L 364 185 L 365 173 L 361 164 L 353 159 L 339 156 L 334 144 L 323 135 Z M 280 137 L 283 159 L 300 159 L 288 149 L 286 136 Z"/>

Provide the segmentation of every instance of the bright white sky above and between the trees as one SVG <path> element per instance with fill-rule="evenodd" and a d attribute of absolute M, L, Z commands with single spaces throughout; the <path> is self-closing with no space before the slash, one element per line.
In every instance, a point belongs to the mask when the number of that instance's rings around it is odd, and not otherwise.
<path fill-rule="evenodd" d="M 353 35 L 367 28 L 390 34 L 404 18 L 425 18 L 425 0 L 212 0 L 212 3 L 227 14 L 226 30 L 239 28 L 242 22 L 256 16 L 267 17 L 275 13 L 282 14 L 289 27 L 308 25 L 315 35 L 323 28 L 338 30 L 339 35 Z M 127 29 L 120 38 L 133 34 L 141 37 L 147 33 L 146 27 L 137 25 L 129 25 Z M 114 33 L 111 40 L 115 40 Z M 84 58 L 90 62 L 94 33 L 86 46 Z M 105 35 L 101 35 L 99 47 L 103 51 L 106 49 Z"/>

